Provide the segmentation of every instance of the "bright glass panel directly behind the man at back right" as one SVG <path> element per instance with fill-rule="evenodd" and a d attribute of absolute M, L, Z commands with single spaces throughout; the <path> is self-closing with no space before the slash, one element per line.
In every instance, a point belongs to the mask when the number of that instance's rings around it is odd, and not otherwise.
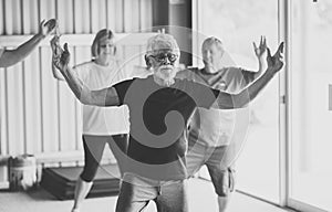
<path fill-rule="evenodd" d="M 267 38 L 271 51 L 276 51 L 278 1 L 197 0 L 196 8 L 197 30 L 205 36 L 219 38 L 237 66 L 258 70 L 252 42 L 259 44 L 261 35 Z M 196 46 L 197 55 L 200 55 L 201 42 Z M 278 91 L 276 77 L 250 105 L 250 128 L 236 163 L 237 189 L 273 202 L 279 202 Z"/>

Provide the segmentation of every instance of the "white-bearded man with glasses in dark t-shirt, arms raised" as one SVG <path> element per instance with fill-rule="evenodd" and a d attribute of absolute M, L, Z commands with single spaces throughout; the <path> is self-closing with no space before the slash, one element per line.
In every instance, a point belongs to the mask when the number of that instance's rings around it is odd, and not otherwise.
<path fill-rule="evenodd" d="M 148 40 L 146 65 L 153 75 L 133 78 L 100 91 L 91 91 L 73 74 L 68 44 L 54 54 L 54 65 L 81 103 L 102 107 L 127 105 L 129 145 L 117 212 L 142 211 L 154 200 L 158 211 L 186 212 L 186 129 L 197 107 L 231 109 L 246 107 L 281 70 L 283 44 L 271 56 L 268 68 L 247 89 L 228 94 L 189 80 L 175 78 L 180 51 L 169 34 Z"/>

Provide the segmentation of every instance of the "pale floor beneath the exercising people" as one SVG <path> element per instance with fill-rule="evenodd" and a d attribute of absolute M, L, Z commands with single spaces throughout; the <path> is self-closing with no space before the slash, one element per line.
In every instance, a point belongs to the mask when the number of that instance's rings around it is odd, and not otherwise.
<path fill-rule="evenodd" d="M 189 212 L 216 212 L 217 201 L 212 184 L 205 180 L 193 179 L 188 182 Z M 87 199 L 82 212 L 114 211 L 116 197 Z M 0 191 L 0 212 L 70 212 L 72 201 L 55 200 L 50 193 L 39 190 L 30 193 Z M 149 203 L 145 212 L 155 212 Z M 284 212 L 274 205 L 258 201 L 241 193 L 235 193 L 229 212 Z"/>

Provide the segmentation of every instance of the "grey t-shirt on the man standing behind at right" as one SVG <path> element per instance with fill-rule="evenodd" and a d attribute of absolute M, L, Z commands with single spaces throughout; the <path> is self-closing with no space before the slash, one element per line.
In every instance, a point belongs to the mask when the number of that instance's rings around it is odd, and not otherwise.
<path fill-rule="evenodd" d="M 179 72 L 177 77 L 185 77 L 227 93 L 238 93 L 253 81 L 251 72 L 239 67 L 224 67 L 215 74 L 191 68 Z M 236 113 L 239 110 L 241 109 L 198 108 L 190 121 L 189 139 L 210 147 L 229 145 L 237 130 Z"/>

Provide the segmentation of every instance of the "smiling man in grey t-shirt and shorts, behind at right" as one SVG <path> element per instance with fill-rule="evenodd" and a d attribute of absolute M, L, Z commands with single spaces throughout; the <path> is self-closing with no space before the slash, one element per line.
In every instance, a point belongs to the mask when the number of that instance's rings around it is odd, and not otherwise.
<path fill-rule="evenodd" d="M 221 41 L 211 36 L 204 41 L 201 47 L 205 67 L 179 72 L 177 77 L 188 78 L 227 93 L 238 93 L 261 74 L 264 68 L 262 55 L 266 49 L 266 39 L 261 38 L 259 47 L 255 44 L 259 70 L 249 72 L 236 67 Z M 226 64 L 228 66 L 225 67 Z M 189 125 L 189 150 L 186 156 L 188 174 L 194 176 L 204 165 L 207 166 L 218 195 L 220 212 L 226 210 L 230 193 L 234 191 L 232 163 L 246 136 L 248 115 L 248 108 L 236 110 L 198 108 Z"/>

